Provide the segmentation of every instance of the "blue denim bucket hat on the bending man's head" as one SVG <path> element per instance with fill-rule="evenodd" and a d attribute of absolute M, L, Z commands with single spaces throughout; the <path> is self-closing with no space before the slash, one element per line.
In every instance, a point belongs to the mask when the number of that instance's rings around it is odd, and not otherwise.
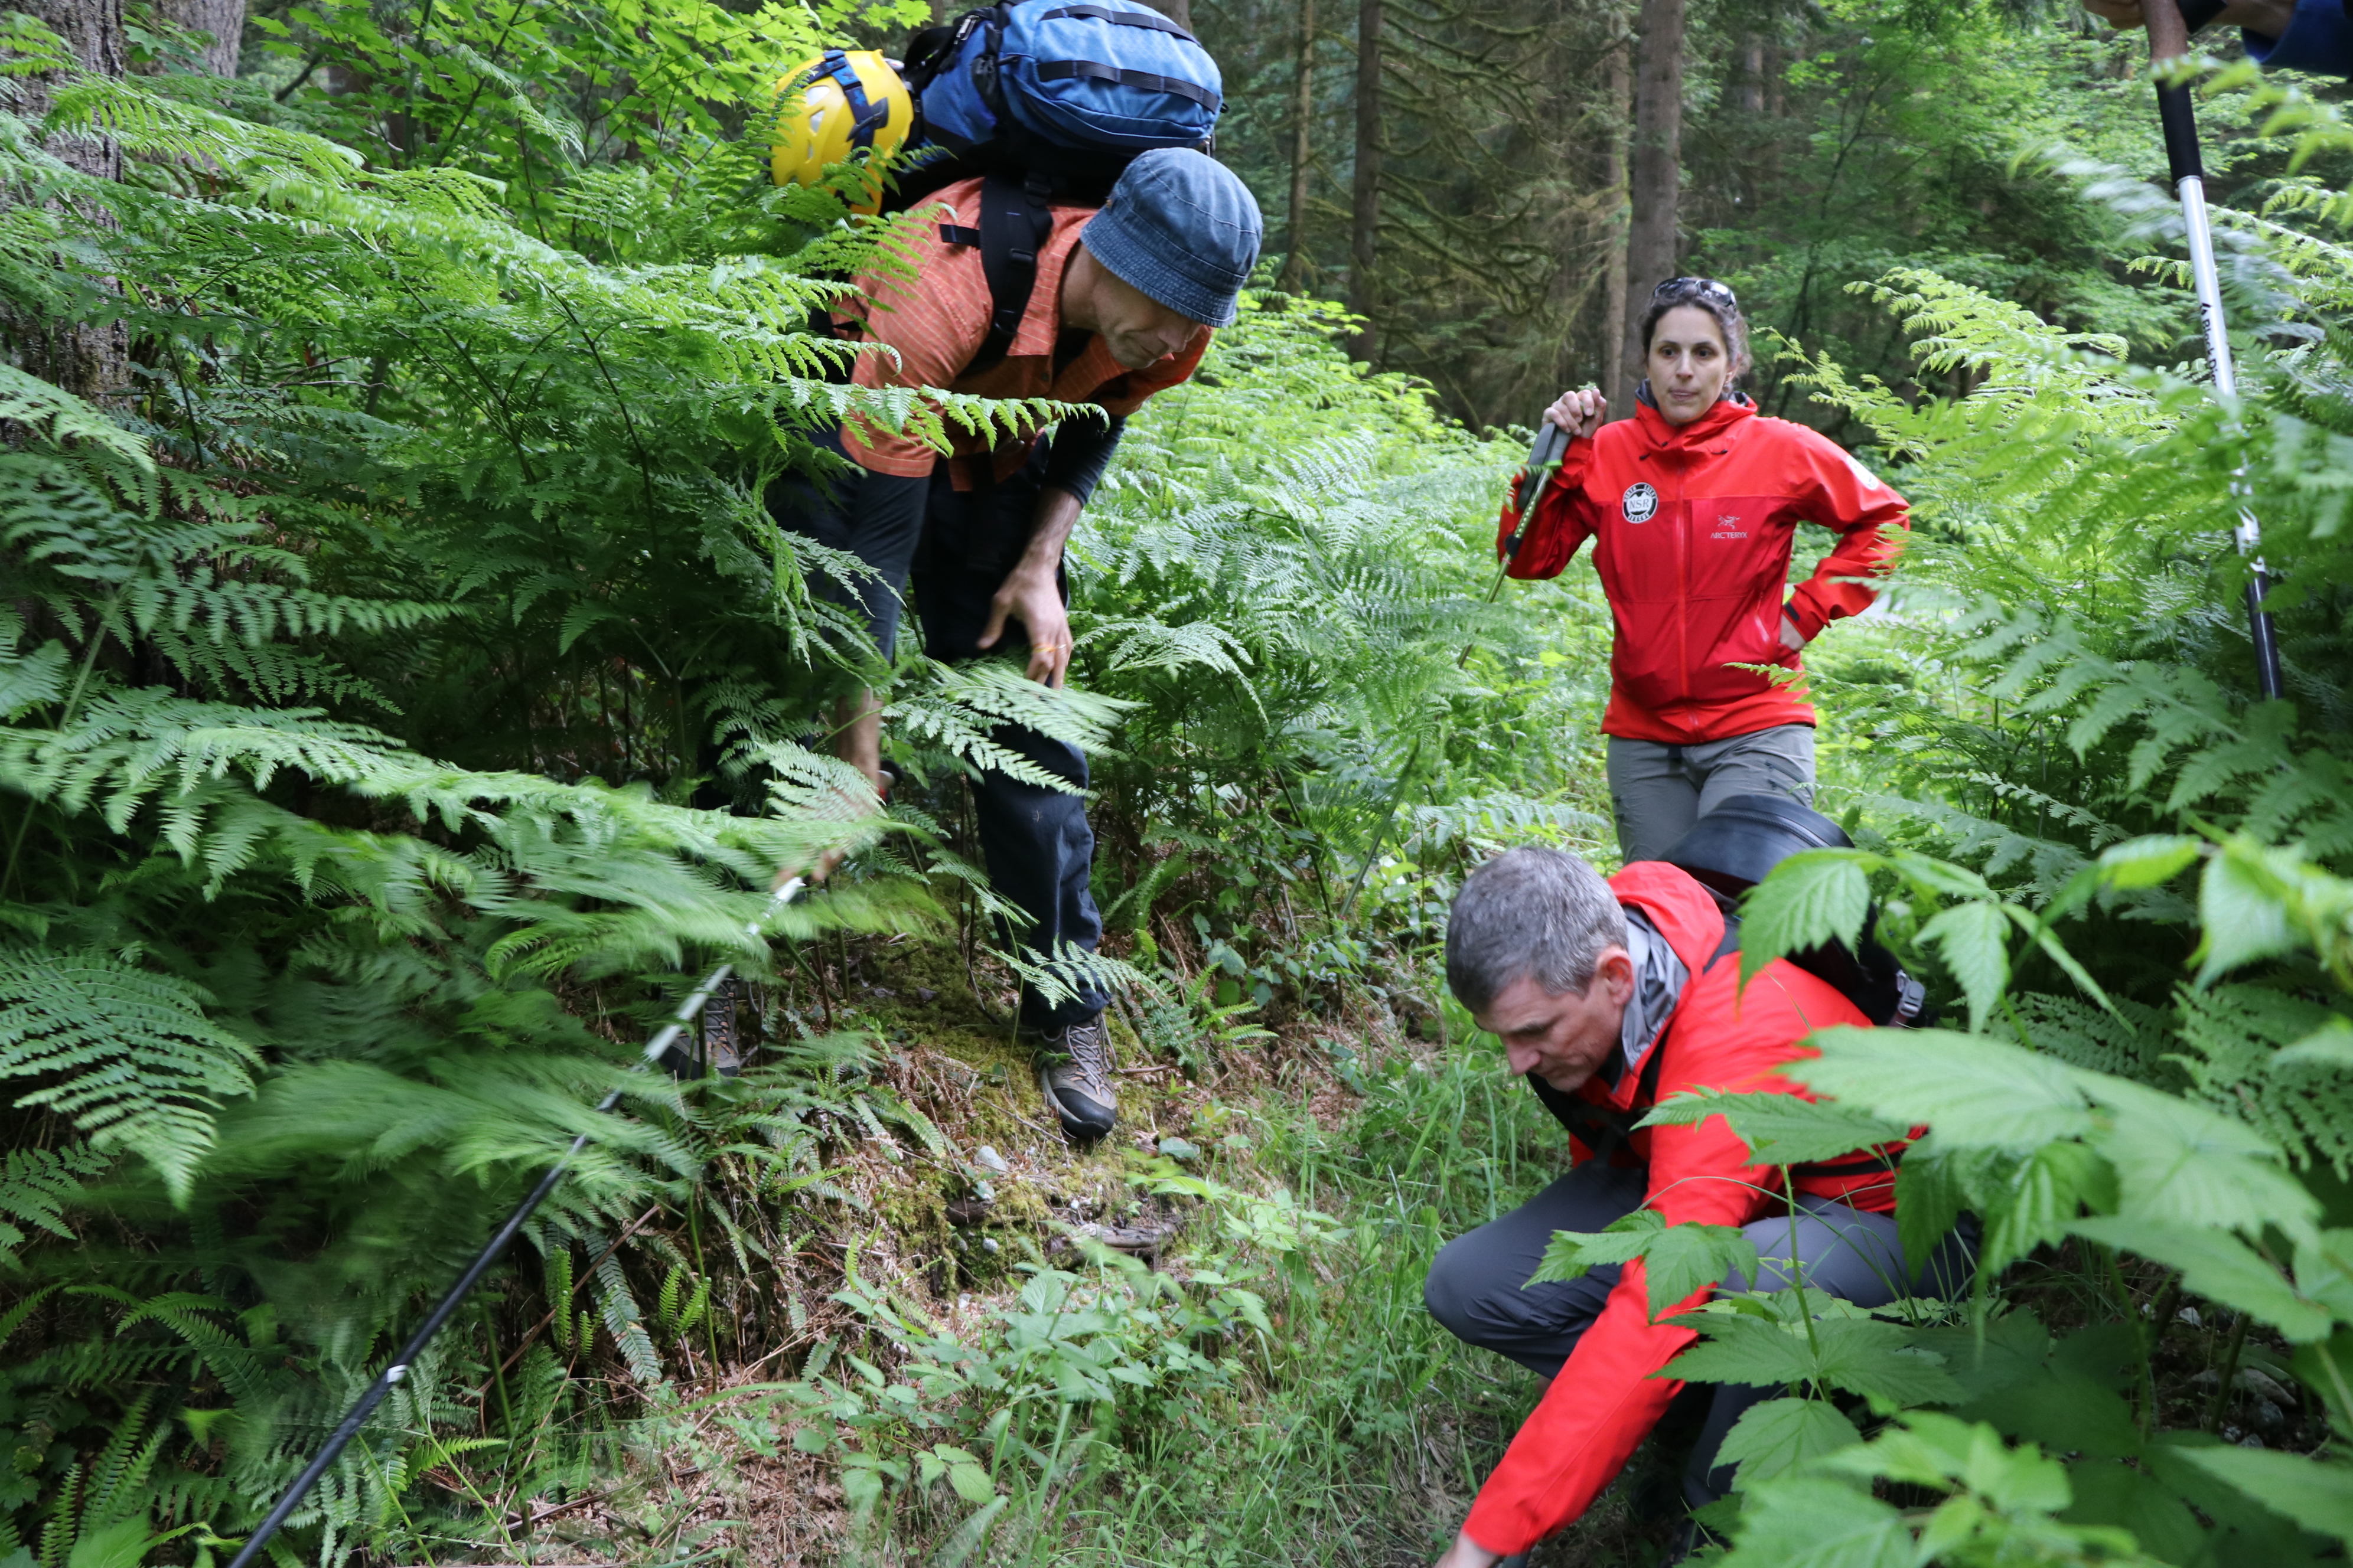
<path fill-rule="evenodd" d="M 1169 310 L 1231 327 L 1259 235 L 1259 202 L 1233 169 L 1193 148 L 1155 148 L 1127 165 L 1078 242 Z"/>

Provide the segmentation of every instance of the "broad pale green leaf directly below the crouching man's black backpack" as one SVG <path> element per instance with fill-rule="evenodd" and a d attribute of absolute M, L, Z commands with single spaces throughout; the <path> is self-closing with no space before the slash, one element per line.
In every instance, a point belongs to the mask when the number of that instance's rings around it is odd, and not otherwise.
<path fill-rule="evenodd" d="M 2031 1154 L 2092 1131 L 2071 1070 L 2000 1039 L 1838 1025 L 1812 1044 L 1821 1056 L 1791 1063 L 1788 1077 L 1889 1121 L 1927 1121 L 1946 1150 Z"/>

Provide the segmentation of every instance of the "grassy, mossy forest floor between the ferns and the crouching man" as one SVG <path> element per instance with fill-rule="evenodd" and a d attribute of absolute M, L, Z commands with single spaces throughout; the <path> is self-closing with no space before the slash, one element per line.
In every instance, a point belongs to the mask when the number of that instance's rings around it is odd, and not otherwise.
<path fill-rule="evenodd" d="M 1191 1067 L 1146 1046 L 1136 1025 L 1153 1020 L 1122 1004 L 1111 1016 L 1120 1128 L 1082 1150 L 1042 1110 L 1028 1053 L 1000 1023 L 1009 987 L 984 1006 L 967 973 L 948 940 L 852 938 L 798 969 L 795 985 L 746 997 L 755 1034 L 807 1025 L 882 1041 L 880 1077 L 946 1147 L 901 1133 L 828 1152 L 842 1199 L 809 1204 L 814 1227 L 772 1279 L 753 1281 L 807 1302 L 805 1326 L 715 1368 L 687 1349 L 678 1371 L 689 1375 L 633 1425 L 621 1474 L 560 1514 L 536 1505 L 511 1554 L 779 1568 L 1431 1561 L 1541 1389 L 1438 1331 L 1419 1281 L 1435 1246 L 1565 1168 L 1565 1140 L 1534 1100 L 1515 1093 L 1497 1056 L 1417 1037 L 1440 1034 L 1435 976 L 1388 987 L 1421 992 L 1426 1013 L 1400 1020 L 1379 999 L 1334 1016 L 1275 1009 L 1268 1037 L 1188 1051 Z M 758 1063 L 748 1051 L 746 1067 Z M 1186 1178 L 1212 1197 L 1172 1192 Z M 1172 1352 L 1184 1335 L 1169 1324 L 1113 1321 L 1087 1345 L 1146 1368 L 1153 1387 L 1113 1382 L 1118 1408 L 1064 1401 L 1075 1420 L 1061 1448 L 1085 1432 L 1082 1458 L 1056 1462 L 1042 1441 L 1054 1436 L 1052 1408 L 1028 1465 L 1021 1441 L 1012 1460 L 1000 1443 L 995 1481 L 1009 1507 L 986 1540 L 958 1540 L 972 1509 L 944 1486 L 894 1488 L 854 1519 L 840 1450 L 795 1448 L 812 1415 L 779 1399 L 779 1378 L 812 1380 L 828 1361 L 840 1373 L 852 1354 L 896 1378 L 920 1349 L 904 1338 L 908 1324 L 1002 1347 L 1038 1269 L 1148 1305 L 1153 1291 L 1106 1269 L 1099 1241 L 1188 1298 L 1247 1286 L 1264 1300 L 1266 1333 L 1228 1326 L 1209 1335 L 1224 1342 L 1212 1359 L 1188 1363 Z M 887 1302 L 901 1326 L 847 1295 Z M 859 1441 L 868 1453 L 979 1448 L 984 1403 L 948 1396 L 906 1429 L 866 1425 Z M 1654 1561 L 1668 1533 L 1657 1521 L 1635 1528 L 1614 1495 L 1537 1561 Z"/>

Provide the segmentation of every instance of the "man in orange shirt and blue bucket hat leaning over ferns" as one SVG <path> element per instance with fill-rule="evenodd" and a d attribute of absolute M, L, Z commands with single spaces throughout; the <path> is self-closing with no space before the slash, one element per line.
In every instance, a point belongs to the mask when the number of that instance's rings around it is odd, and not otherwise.
<path fill-rule="evenodd" d="M 880 346 L 859 360 L 856 383 L 1054 397 L 1101 416 L 1064 421 L 1052 437 L 951 423 L 948 456 L 852 421 L 828 442 L 856 465 L 849 482 L 786 482 L 769 510 L 873 569 L 852 590 L 831 592 L 856 602 L 885 658 L 911 583 L 932 658 L 1026 644 L 1028 677 L 1061 686 L 1071 665 L 1064 541 L 1127 416 L 1184 383 L 1209 331 L 1233 324 L 1259 261 L 1259 207 L 1231 169 L 1191 148 L 1139 155 L 1101 209 L 1042 207 L 1009 183 L 979 179 L 944 188 L 934 202 L 946 207 L 944 221 L 918 242 L 913 268 L 859 280 L 852 320 L 838 324 Z M 1014 287 L 1000 277 L 993 292 L 991 266 L 1014 268 Z M 1014 299 L 1021 275 L 1026 303 Z M 859 691 L 840 719 L 842 759 L 880 792 L 878 703 Z M 1078 748 L 1021 724 L 1000 724 L 991 738 L 1087 788 Z M 1101 1025 L 1108 997 L 1082 966 L 1056 964 L 1056 954 L 1092 952 L 1101 936 L 1087 891 L 1094 832 L 1082 795 L 984 771 L 974 813 L 991 884 L 1028 917 L 1016 933 L 1024 957 L 1071 992 L 1052 999 L 1024 985 L 1019 1023 L 1038 1053 L 1040 1093 L 1071 1138 L 1101 1138 L 1118 1117 Z"/>

